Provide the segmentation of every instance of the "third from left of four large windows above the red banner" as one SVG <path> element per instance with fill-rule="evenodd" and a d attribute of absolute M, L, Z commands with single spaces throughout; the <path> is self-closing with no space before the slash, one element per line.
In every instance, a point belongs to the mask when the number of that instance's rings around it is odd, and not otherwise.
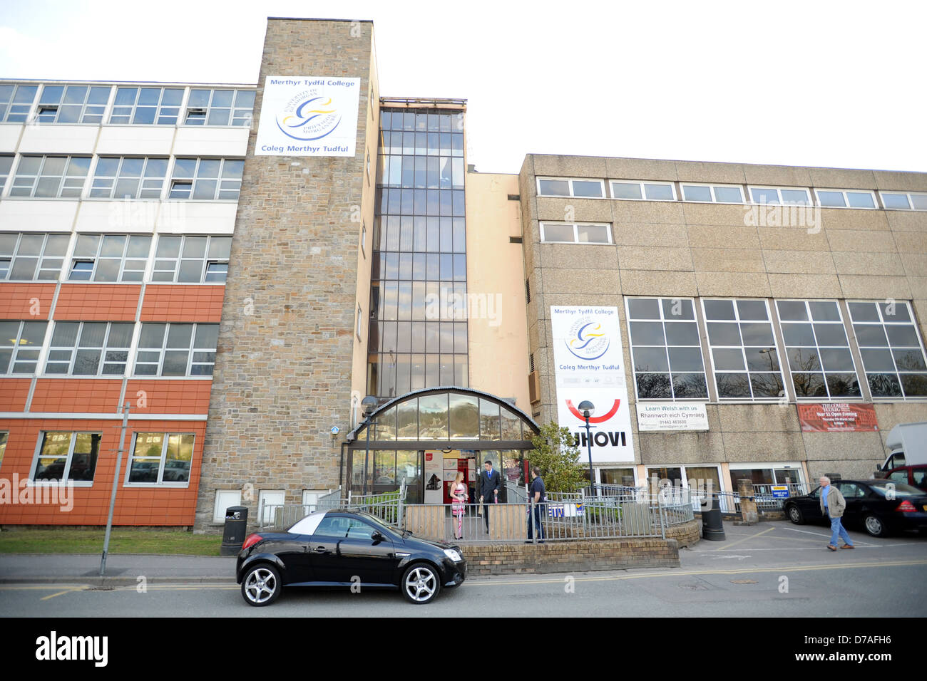
<path fill-rule="evenodd" d="M 836 301 L 777 300 L 776 307 L 795 397 L 861 397 Z"/>

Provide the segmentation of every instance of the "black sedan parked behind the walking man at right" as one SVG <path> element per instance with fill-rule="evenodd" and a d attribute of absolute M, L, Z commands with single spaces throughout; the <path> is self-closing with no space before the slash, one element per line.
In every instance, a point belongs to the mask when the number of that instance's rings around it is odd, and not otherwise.
<path fill-rule="evenodd" d="M 892 480 L 834 480 L 846 499 L 843 524 L 861 527 L 871 536 L 902 530 L 927 531 L 927 493 Z M 820 512 L 820 487 L 785 501 L 783 510 L 795 524 L 825 523 Z"/>

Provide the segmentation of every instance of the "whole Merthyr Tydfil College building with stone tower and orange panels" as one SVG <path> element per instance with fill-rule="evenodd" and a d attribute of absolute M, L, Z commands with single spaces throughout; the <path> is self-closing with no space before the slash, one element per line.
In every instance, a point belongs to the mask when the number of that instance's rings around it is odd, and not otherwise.
<path fill-rule="evenodd" d="M 927 420 L 927 174 L 479 172 L 465 99 L 381 94 L 371 22 L 269 19 L 260 58 L 0 81 L 0 524 L 440 503 L 523 484 L 551 421 L 603 484 L 869 477 Z"/>

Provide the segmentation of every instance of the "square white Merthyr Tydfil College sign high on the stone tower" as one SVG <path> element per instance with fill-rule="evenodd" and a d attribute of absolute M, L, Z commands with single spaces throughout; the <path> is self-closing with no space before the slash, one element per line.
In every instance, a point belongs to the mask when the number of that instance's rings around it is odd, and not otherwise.
<path fill-rule="evenodd" d="M 255 156 L 354 156 L 361 79 L 267 76 Z"/>

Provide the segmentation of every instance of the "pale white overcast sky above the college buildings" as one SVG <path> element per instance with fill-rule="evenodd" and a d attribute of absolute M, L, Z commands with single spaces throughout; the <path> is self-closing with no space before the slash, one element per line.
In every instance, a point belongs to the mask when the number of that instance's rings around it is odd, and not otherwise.
<path fill-rule="evenodd" d="M 381 94 L 466 98 L 477 170 L 527 153 L 927 170 L 922 0 L 0 0 L 0 77 L 254 83 L 268 16 L 373 19 Z"/>

